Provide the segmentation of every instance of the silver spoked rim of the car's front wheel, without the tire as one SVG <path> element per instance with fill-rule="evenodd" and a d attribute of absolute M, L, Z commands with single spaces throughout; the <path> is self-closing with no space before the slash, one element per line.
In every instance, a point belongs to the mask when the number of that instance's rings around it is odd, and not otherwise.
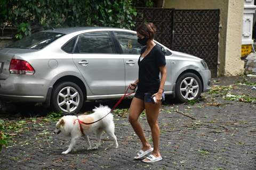
<path fill-rule="evenodd" d="M 188 77 L 180 84 L 180 94 L 187 100 L 193 100 L 199 91 L 199 84 L 196 79 Z"/>

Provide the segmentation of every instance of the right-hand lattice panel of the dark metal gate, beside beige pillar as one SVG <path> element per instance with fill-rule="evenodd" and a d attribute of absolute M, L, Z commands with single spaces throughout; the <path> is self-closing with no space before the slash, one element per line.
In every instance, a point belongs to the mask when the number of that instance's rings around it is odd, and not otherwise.
<path fill-rule="evenodd" d="M 217 77 L 219 52 L 219 10 L 175 10 L 173 50 L 205 60 Z"/>

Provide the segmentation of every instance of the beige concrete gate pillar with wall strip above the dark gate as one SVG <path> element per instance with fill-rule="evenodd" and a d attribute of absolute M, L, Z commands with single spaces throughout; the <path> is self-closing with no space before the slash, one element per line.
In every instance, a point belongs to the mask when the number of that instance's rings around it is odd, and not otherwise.
<path fill-rule="evenodd" d="M 241 69 L 243 69 L 244 63 L 240 60 L 243 19 L 242 0 L 165 0 L 164 7 L 202 10 L 220 9 L 218 76 L 235 75 L 243 72 Z M 233 39 L 232 35 L 236 35 L 236 38 Z"/>

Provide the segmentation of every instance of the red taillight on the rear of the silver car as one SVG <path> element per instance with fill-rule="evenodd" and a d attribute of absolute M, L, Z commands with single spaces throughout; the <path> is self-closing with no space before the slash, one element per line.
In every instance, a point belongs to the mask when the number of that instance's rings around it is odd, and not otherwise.
<path fill-rule="evenodd" d="M 28 74 L 35 73 L 34 68 L 25 60 L 12 59 L 9 67 L 11 74 Z"/>

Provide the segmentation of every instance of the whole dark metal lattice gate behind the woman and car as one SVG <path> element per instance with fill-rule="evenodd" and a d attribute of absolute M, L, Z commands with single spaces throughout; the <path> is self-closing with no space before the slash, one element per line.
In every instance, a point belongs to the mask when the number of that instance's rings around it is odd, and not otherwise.
<path fill-rule="evenodd" d="M 217 77 L 220 10 L 137 8 L 136 25 L 153 22 L 155 39 L 166 47 L 205 60 Z"/>

